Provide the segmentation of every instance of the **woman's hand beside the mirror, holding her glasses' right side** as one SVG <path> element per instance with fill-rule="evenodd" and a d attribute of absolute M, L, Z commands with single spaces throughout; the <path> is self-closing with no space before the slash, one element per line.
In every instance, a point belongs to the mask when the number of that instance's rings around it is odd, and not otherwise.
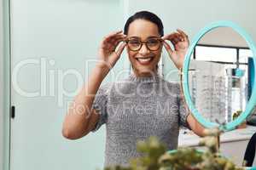
<path fill-rule="evenodd" d="M 183 60 L 185 58 L 185 54 L 189 48 L 189 37 L 182 30 L 177 29 L 177 32 L 173 32 L 162 37 L 164 40 L 164 46 L 172 59 L 174 65 L 176 65 L 177 69 L 183 67 Z M 174 49 L 166 42 L 172 42 Z"/>

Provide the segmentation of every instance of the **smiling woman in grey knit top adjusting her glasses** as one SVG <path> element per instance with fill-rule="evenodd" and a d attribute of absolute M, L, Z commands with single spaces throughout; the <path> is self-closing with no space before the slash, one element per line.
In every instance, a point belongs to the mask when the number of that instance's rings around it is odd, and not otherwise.
<path fill-rule="evenodd" d="M 203 135 L 203 127 L 184 108 L 179 86 L 157 74 L 163 46 L 177 68 L 182 68 L 189 47 L 187 35 L 177 30 L 164 36 L 160 18 L 148 11 L 132 15 L 124 34 L 117 31 L 105 37 L 99 49 L 101 62 L 74 99 L 63 123 L 63 136 L 79 139 L 106 123 L 105 166 L 125 166 L 131 157 L 139 156 L 139 139 L 156 136 L 173 150 L 180 125 Z M 125 47 L 133 73 L 122 82 L 101 85 Z"/>

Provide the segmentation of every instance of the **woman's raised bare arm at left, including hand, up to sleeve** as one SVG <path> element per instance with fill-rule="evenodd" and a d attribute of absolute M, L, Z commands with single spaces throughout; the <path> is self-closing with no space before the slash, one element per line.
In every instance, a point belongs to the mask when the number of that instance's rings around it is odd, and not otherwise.
<path fill-rule="evenodd" d="M 95 95 L 108 72 L 119 59 L 125 48 L 123 42 L 115 51 L 125 35 L 121 31 L 113 32 L 105 37 L 99 48 L 99 62 L 91 72 L 89 80 L 80 90 L 70 105 L 62 125 L 62 135 L 67 139 L 79 139 L 96 127 L 100 115 L 91 109 Z"/>

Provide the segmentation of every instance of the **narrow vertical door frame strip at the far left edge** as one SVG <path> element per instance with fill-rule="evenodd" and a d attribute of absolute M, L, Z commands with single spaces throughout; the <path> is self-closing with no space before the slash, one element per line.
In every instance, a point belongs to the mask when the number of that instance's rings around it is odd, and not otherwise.
<path fill-rule="evenodd" d="M 2 0 L 3 5 L 3 170 L 9 170 L 10 163 L 10 0 Z"/>

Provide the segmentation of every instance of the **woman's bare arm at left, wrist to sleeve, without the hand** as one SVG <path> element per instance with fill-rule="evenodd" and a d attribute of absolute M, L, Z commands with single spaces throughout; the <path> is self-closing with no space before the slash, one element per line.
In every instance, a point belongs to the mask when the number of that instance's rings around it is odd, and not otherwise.
<path fill-rule="evenodd" d="M 98 115 L 91 110 L 98 88 L 108 75 L 108 67 L 97 65 L 90 74 L 79 94 L 70 105 L 63 122 L 62 134 L 68 139 L 79 139 L 90 132 Z"/>

